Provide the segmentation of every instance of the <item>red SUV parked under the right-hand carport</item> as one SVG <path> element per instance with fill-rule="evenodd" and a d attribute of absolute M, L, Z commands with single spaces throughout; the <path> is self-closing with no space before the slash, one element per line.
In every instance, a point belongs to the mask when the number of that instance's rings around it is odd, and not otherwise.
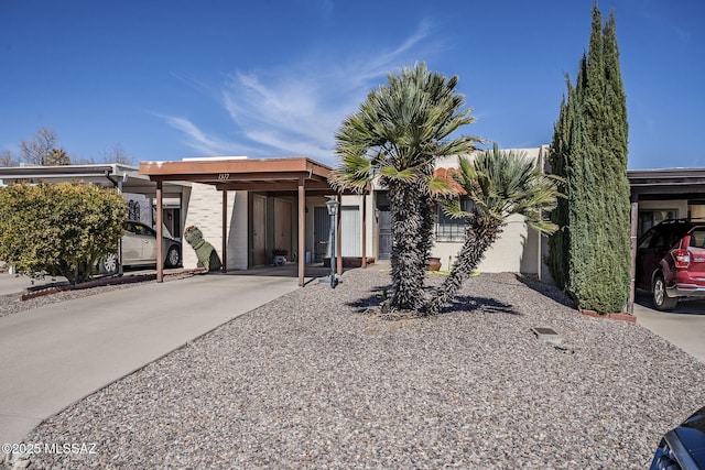
<path fill-rule="evenodd" d="M 637 250 L 637 287 L 670 310 L 682 297 L 705 297 L 705 222 L 665 220 L 647 231 Z"/>

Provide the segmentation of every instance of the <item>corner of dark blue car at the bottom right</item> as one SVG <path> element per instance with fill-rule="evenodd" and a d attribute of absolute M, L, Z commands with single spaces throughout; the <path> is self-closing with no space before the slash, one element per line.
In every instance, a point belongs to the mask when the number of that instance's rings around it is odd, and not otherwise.
<path fill-rule="evenodd" d="M 661 469 L 705 469 L 705 406 L 663 436 L 651 461 Z"/>

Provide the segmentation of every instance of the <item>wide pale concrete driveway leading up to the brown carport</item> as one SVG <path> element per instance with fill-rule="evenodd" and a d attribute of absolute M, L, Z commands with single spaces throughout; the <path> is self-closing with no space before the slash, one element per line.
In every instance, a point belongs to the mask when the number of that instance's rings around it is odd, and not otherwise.
<path fill-rule="evenodd" d="M 296 288 L 291 277 L 199 275 L 0 318 L 0 442 Z"/>

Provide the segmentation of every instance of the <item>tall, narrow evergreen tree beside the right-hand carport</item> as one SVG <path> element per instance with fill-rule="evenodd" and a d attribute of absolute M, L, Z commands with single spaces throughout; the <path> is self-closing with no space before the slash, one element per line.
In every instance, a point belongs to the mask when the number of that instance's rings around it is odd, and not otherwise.
<path fill-rule="evenodd" d="M 549 266 L 578 307 L 619 311 L 629 294 L 627 103 L 614 12 L 593 6 L 589 51 L 555 124 L 551 165 L 567 195 L 553 212 Z"/>

